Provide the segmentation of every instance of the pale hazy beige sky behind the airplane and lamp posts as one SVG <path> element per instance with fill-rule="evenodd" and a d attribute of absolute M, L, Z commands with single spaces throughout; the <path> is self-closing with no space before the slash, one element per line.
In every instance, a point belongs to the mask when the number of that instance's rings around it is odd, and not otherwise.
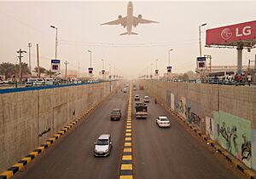
<path fill-rule="evenodd" d="M 145 73 L 150 64 L 158 61 L 160 74 L 166 72 L 168 50 L 173 72 L 195 71 L 195 58 L 199 55 L 198 26 L 202 27 L 202 46 L 205 30 L 256 20 L 256 2 L 133 2 L 134 15 L 160 21 L 159 24 L 139 25 L 133 29 L 138 36 L 119 36 L 126 32 L 123 26 L 100 26 L 126 15 L 126 1 L 122 2 L 0 2 L 0 62 L 17 63 L 18 49 L 32 43 L 32 66 L 36 66 L 36 43 L 39 43 L 41 66 L 49 69 L 49 60 L 55 57 L 55 29 L 58 27 L 58 59 L 68 61 L 68 69 L 87 72 L 92 66 L 95 73 L 111 63 L 124 76 L 137 77 Z M 212 65 L 236 65 L 236 49 L 202 49 L 212 55 Z M 256 50 L 243 51 L 243 64 L 254 60 Z M 24 55 L 23 61 L 28 61 Z"/>

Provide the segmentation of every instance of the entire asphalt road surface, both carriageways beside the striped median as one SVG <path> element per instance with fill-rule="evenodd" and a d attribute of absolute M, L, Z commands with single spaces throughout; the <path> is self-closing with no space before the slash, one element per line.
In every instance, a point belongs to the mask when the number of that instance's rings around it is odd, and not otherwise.
<path fill-rule="evenodd" d="M 135 94 L 147 95 L 139 90 L 134 91 Z M 13 178 L 119 178 L 128 95 L 129 92 L 123 94 L 119 90 Z M 155 105 L 154 99 L 150 100 L 148 118 L 137 119 L 134 113 L 132 118 L 133 172 L 136 179 L 245 178 L 221 154 L 212 152 L 205 141 L 190 133 L 177 119 L 171 118 L 159 104 Z M 109 113 L 113 108 L 121 109 L 123 116 L 120 121 L 110 121 Z M 160 129 L 157 126 L 155 118 L 159 115 L 171 119 L 171 128 Z M 106 158 L 96 158 L 93 143 L 102 133 L 111 134 L 113 150 Z"/>

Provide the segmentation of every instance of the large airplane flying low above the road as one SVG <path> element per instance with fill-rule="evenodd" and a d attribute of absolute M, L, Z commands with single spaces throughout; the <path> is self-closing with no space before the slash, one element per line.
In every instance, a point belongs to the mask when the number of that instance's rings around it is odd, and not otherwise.
<path fill-rule="evenodd" d="M 138 24 L 148 24 L 148 23 L 159 23 L 157 21 L 153 20 L 144 20 L 143 15 L 139 14 L 137 17 L 133 16 L 133 5 L 131 2 L 127 5 L 127 16 L 122 17 L 122 15 L 119 15 L 118 20 L 109 21 L 107 23 L 101 24 L 101 25 L 121 25 L 126 27 L 127 32 L 120 34 L 122 35 L 138 35 L 135 32 L 131 32 L 132 26 L 136 27 Z"/>

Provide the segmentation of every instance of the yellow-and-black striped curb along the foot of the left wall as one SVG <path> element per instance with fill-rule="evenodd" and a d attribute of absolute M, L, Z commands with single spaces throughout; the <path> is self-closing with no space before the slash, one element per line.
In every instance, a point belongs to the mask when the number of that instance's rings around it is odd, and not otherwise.
<path fill-rule="evenodd" d="M 50 147 L 57 139 L 61 138 L 61 136 L 65 134 L 68 130 L 70 130 L 73 127 L 73 125 L 79 123 L 79 121 L 82 120 L 84 117 L 88 117 L 90 113 L 93 113 L 96 110 L 96 108 L 99 107 L 102 104 L 102 102 L 106 101 L 110 95 L 113 95 L 114 92 L 115 90 L 113 90 L 113 92 L 107 95 L 105 99 L 90 107 L 79 117 L 74 118 L 72 122 L 70 122 L 61 130 L 56 132 L 54 136 L 50 137 L 39 147 L 35 148 L 31 153 L 28 153 L 24 158 L 20 159 L 20 161 L 18 161 L 15 165 L 12 165 L 11 167 L 9 167 L 9 169 L 3 171 L 3 173 L 0 174 L 0 179 L 9 179 L 11 176 L 14 176 L 17 171 L 21 170 L 25 165 L 30 163 L 32 159 L 35 159 L 36 157 L 38 157 L 40 153 L 43 153 L 46 148 Z"/>

